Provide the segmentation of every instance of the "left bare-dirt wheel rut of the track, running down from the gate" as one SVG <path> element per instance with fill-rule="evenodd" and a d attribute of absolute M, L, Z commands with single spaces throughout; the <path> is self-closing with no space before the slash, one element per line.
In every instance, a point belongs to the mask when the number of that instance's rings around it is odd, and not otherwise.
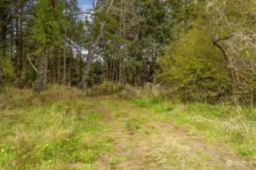
<path fill-rule="evenodd" d="M 119 97 L 115 96 L 108 96 L 108 97 L 96 97 L 96 100 L 99 102 L 98 105 L 95 107 L 96 112 L 103 113 L 105 116 L 106 121 L 112 127 L 112 131 L 110 133 L 106 132 L 105 135 L 112 136 L 115 138 L 115 141 L 112 142 L 113 146 L 115 147 L 115 153 L 111 156 L 103 155 L 100 156 L 99 161 L 97 163 L 97 169 L 143 169 L 140 166 L 140 153 L 141 151 L 138 148 L 132 148 L 131 150 L 125 150 L 126 142 L 129 140 L 129 134 L 126 134 L 122 131 L 118 123 L 118 119 L 113 118 L 111 111 L 106 108 L 103 104 L 103 101 L 112 100 L 117 102 L 122 102 Z M 127 158 L 131 155 L 137 155 L 137 159 L 130 159 Z M 111 159 L 114 157 L 114 159 Z"/>

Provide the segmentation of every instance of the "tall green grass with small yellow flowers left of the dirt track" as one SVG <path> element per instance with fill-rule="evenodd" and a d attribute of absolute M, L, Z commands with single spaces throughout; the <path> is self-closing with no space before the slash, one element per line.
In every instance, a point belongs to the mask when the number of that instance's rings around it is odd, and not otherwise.
<path fill-rule="evenodd" d="M 47 103 L 1 110 L 0 169 L 94 169 L 97 156 L 113 150 L 90 100 Z"/>

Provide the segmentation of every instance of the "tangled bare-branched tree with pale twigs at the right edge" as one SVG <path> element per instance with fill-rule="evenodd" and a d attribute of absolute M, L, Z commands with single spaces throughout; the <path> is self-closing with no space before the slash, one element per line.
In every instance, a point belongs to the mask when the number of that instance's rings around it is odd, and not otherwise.
<path fill-rule="evenodd" d="M 231 7 L 230 12 L 227 9 Z M 250 22 L 256 18 L 255 8 L 255 1 L 209 1 L 206 8 L 213 45 L 223 53 L 232 86 L 243 93 L 246 100 L 250 98 L 251 104 L 256 95 L 256 28 L 255 23 Z"/>

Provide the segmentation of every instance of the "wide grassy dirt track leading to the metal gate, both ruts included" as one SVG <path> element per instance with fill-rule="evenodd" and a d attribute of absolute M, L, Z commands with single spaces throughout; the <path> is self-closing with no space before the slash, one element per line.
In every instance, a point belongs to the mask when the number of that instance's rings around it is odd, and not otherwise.
<path fill-rule="evenodd" d="M 157 121 L 149 111 L 115 96 L 93 97 L 95 110 L 111 128 L 112 153 L 96 169 L 254 169 L 223 144 L 207 144 L 198 131 Z"/>

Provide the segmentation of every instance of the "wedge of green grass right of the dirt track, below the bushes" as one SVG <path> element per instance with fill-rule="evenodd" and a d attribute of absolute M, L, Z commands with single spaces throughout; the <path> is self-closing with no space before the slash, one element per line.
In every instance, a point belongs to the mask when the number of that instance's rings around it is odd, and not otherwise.
<path fill-rule="evenodd" d="M 212 144 L 229 144 L 242 156 L 256 155 L 256 109 L 210 104 L 172 104 L 155 100 L 130 100 L 134 106 L 152 110 L 156 119 L 187 125 L 200 131 Z"/>

